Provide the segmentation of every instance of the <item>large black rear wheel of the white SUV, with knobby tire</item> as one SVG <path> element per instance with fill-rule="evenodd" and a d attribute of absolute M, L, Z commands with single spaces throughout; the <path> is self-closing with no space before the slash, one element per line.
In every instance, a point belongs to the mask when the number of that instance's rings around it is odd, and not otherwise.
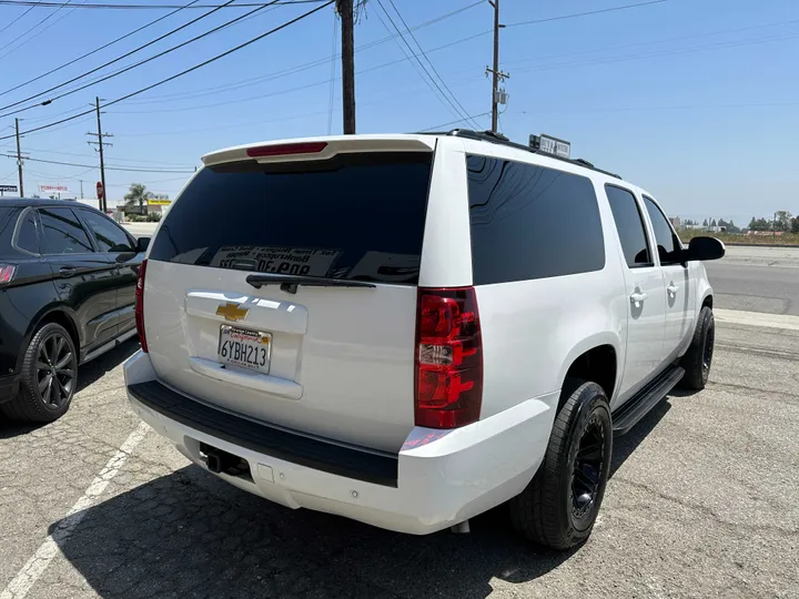
<path fill-rule="evenodd" d="M 558 550 L 590 535 L 613 455 L 610 408 L 603 388 L 567 379 L 563 393 L 569 394 L 568 399 L 555 418 L 544 461 L 527 488 L 508 502 L 517 531 L 536 545 Z M 586 458 L 595 458 L 593 465 Z M 584 476 L 575 477 L 578 470 Z"/>

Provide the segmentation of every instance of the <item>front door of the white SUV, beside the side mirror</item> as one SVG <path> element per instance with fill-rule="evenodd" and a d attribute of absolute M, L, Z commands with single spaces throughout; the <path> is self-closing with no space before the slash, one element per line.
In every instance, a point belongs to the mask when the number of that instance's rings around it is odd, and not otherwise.
<path fill-rule="evenodd" d="M 682 243 L 668 222 L 660 206 L 644 195 L 657 243 L 660 270 L 666 287 L 666 331 L 664 334 L 664 359 L 671 362 L 690 343 L 694 331 L 695 297 L 691 270 L 682 262 Z"/>

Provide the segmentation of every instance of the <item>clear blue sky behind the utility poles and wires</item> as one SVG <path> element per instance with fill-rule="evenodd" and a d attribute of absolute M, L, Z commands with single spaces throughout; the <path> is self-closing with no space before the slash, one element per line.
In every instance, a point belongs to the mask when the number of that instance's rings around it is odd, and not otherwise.
<path fill-rule="evenodd" d="M 246 1 L 252 0 L 239 0 Z M 542 132 L 567 139 L 575 155 L 647 187 L 671 214 L 734 217 L 741 224 L 752 215 L 779 209 L 799 213 L 796 0 L 668 0 L 510 27 L 641 1 L 502 0 L 502 21 L 509 27 L 502 32 L 500 65 L 510 73 L 502 131 L 519 142 L 526 142 L 529 133 Z M 391 2 L 382 2 L 402 27 Z M 414 27 L 473 4 L 474 0 L 394 2 L 408 26 Z M 313 7 L 265 9 L 129 73 L 19 114 L 26 119 L 21 128 L 24 131 L 84 110 L 94 95 L 121 97 Z M 24 10 L 0 6 L 0 29 Z M 0 35 L 0 92 L 168 12 L 64 8 L 12 45 L 2 48 L 52 10 L 36 8 Z M 156 53 L 246 10 L 251 9 L 220 10 L 103 72 Z M 0 105 L 61 83 L 202 12 L 181 11 L 68 69 L 0 95 Z M 483 128 L 489 124 L 485 113 L 490 108 L 490 83 L 484 70 L 490 61 L 492 19 L 493 10 L 484 2 L 415 31 L 438 73 L 466 112 L 478 115 L 476 121 Z M 356 27 L 356 47 L 386 38 L 384 21 L 391 28 L 380 3 L 370 0 Z M 193 167 L 203 153 L 226 145 L 326 134 L 333 30 L 333 9 L 326 8 L 214 64 L 110 106 L 103 118 L 103 128 L 114 134 L 108 164 Z M 409 37 L 408 41 L 413 43 Z M 403 59 L 398 40 L 357 51 L 356 70 L 363 71 L 356 79 L 358 132 L 456 124 L 453 121 L 457 116 L 425 84 L 415 61 Z M 318 64 L 299 69 L 314 61 Z M 378 68 L 393 61 L 400 62 Z M 338 61 L 335 64 L 338 77 Z M 254 78 L 261 79 L 252 81 Z M 333 111 L 332 131 L 338 133 L 340 80 L 335 82 Z M 11 125 L 12 116 L 0 119 L 3 134 L 13 132 Z M 87 144 L 85 132 L 94 128 L 93 119 L 87 116 L 32 133 L 23 139 L 23 150 L 31 158 L 91 165 L 97 159 Z M 0 141 L 1 152 L 12 148 L 13 140 Z M 16 182 L 14 171 L 13 160 L 0 158 L 1 183 Z M 99 176 L 97 169 L 37 162 L 28 162 L 27 173 L 28 190 L 39 182 L 64 182 L 78 191 L 77 179 L 83 179 L 87 194 L 93 192 Z M 109 171 L 109 196 L 112 201 L 121 197 L 132 182 L 144 182 L 152 191 L 173 196 L 182 177 Z"/>

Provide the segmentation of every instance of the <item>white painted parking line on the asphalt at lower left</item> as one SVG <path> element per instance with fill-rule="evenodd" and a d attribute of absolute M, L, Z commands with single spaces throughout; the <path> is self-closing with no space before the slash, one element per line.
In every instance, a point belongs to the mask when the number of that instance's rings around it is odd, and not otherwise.
<path fill-rule="evenodd" d="M 124 463 L 128 461 L 131 453 L 135 449 L 135 446 L 141 443 L 148 430 L 150 430 L 150 427 L 141 423 L 139 427 L 130 434 L 119 448 L 119 451 L 117 451 L 105 467 L 100 470 L 100 474 L 92 480 L 83 496 L 78 499 L 78 502 L 72 506 L 72 509 L 67 514 L 67 517 L 61 520 L 58 528 L 44 539 L 44 542 L 39 546 L 33 557 L 22 566 L 22 569 L 11 579 L 8 587 L 0 592 L 0 599 L 22 599 L 30 592 L 31 587 L 39 580 L 41 575 L 44 573 L 44 570 L 50 566 L 53 558 L 59 555 L 59 546 L 69 539 L 72 531 L 85 517 L 87 509 L 94 505 L 98 497 L 102 495 L 108 484 L 117 476 Z"/>

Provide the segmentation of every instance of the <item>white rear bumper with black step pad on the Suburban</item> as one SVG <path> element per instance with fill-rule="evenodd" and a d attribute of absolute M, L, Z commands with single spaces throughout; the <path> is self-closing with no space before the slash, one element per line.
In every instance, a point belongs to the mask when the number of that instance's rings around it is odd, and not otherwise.
<path fill-rule="evenodd" d="M 125 364 L 133 410 L 193 463 L 200 444 L 245 459 L 251 476 L 219 474 L 290 508 L 424 535 L 519 494 L 549 440 L 557 394 L 455 430 L 414 428 L 395 455 L 310 437 L 219 410 L 158 382 L 150 357 Z M 156 395 L 161 397 L 156 397 Z"/>

